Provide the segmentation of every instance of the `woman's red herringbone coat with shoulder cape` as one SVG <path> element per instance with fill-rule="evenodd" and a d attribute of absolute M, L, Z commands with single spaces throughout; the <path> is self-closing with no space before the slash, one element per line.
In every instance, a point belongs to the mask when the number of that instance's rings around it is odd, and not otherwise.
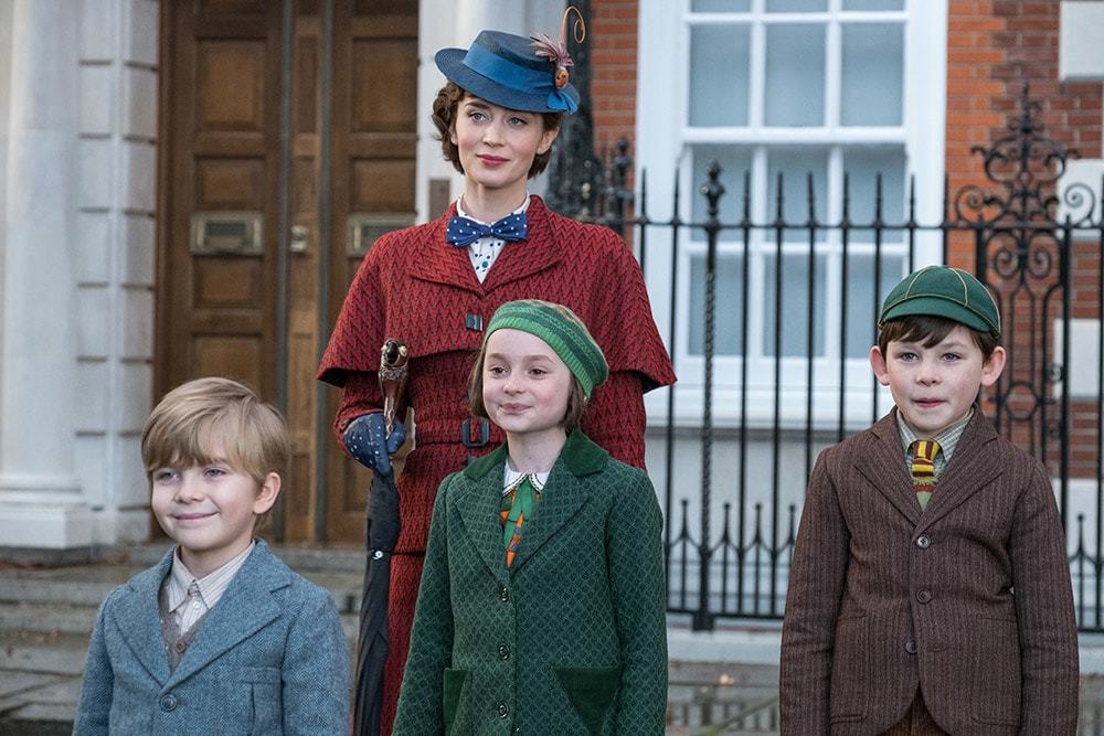
<path fill-rule="evenodd" d="M 618 460 L 644 466 L 644 392 L 675 382 L 667 350 L 651 317 L 640 267 L 612 231 L 551 212 L 540 198 L 529 205 L 529 237 L 510 243 L 480 284 L 466 248 L 445 243 L 439 220 L 384 235 L 372 245 L 349 287 L 322 356 L 318 377 L 343 388 L 335 429 L 380 410 L 380 346 L 399 338 L 411 351 L 406 403 L 417 420 L 417 449 L 399 478 L 402 531 L 392 564 L 391 650 L 384 674 L 384 725 L 390 729 L 422 570 L 422 555 L 437 487 L 461 470 L 469 455 L 485 455 L 502 436 L 471 450 L 460 441 L 469 416 L 467 378 L 482 332 L 468 316 L 490 321 L 503 302 L 545 299 L 566 305 L 586 323 L 609 363 L 595 390 L 583 430 Z M 405 413 L 400 406 L 399 416 Z"/>

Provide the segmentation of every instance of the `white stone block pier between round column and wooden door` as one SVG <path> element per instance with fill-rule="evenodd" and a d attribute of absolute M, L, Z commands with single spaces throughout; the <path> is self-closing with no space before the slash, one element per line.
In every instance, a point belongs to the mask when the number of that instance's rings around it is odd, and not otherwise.
<path fill-rule="evenodd" d="M 146 538 L 138 440 L 152 396 L 157 39 L 153 0 L 83 0 L 76 468 L 94 541 Z"/>

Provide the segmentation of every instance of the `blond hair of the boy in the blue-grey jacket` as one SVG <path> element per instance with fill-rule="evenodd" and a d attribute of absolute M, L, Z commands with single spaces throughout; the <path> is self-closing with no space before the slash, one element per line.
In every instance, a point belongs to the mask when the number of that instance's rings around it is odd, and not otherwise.
<path fill-rule="evenodd" d="M 247 386 L 230 378 L 195 378 L 170 391 L 141 431 L 141 461 L 147 478 L 170 465 L 212 462 L 212 439 L 222 440 L 223 458 L 237 472 L 264 483 L 270 472 L 283 480 L 291 456 L 291 438 L 279 410 Z M 268 512 L 257 516 L 262 526 Z"/>

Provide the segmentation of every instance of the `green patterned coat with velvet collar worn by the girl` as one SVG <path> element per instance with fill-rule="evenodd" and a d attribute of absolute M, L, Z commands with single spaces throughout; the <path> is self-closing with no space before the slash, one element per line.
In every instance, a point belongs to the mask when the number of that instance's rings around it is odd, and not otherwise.
<path fill-rule="evenodd" d="M 506 566 L 503 445 L 437 492 L 394 734 L 661 735 L 662 518 L 572 433 Z"/>

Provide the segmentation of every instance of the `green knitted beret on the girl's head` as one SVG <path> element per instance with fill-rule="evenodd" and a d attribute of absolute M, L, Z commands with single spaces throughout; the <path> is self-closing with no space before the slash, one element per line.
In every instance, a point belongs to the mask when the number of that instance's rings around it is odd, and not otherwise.
<path fill-rule="evenodd" d="M 563 305 L 538 299 L 508 301 L 495 310 L 484 335 L 484 344 L 496 330 L 509 328 L 534 334 L 549 344 L 578 378 L 587 396 L 609 375 L 602 349 L 583 320 Z"/>

